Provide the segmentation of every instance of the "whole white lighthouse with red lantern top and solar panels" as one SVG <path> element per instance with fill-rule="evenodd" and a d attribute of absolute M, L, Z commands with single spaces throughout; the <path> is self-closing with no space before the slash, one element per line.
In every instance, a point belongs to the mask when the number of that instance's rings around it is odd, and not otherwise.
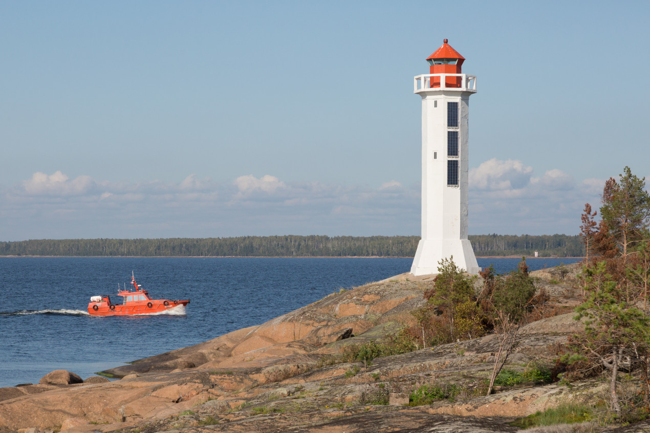
<path fill-rule="evenodd" d="M 422 239 L 411 274 L 437 274 L 438 262 L 452 256 L 459 268 L 477 274 L 467 239 L 467 118 L 476 77 L 461 73 L 465 58 L 447 39 L 426 61 L 430 73 L 413 80 L 413 92 L 422 97 Z"/>

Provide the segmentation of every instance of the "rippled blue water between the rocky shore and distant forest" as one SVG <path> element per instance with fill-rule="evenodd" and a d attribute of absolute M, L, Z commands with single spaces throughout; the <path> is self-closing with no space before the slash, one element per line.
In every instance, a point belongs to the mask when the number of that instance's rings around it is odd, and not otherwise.
<path fill-rule="evenodd" d="M 530 259 L 531 270 L 576 259 Z M 261 324 L 353 287 L 408 272 L 412 259 L 0 257 L 0 387 L 55 369 L 82 378 Z M 478 259 L 499 273 L 518 259 Z M 93 317 L 94 295 L 131 280 L 153 298 L 187 299 L 184 315 Z M 113 302 L 121 300 L 112 296 Z"/>

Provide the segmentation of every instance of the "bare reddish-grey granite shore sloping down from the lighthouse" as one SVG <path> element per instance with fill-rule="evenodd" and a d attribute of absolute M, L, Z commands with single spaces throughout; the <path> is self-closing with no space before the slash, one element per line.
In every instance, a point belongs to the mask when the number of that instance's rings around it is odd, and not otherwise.
<path fill-rule="evenodd" d="M 558 311 L 578 304 L 578 291 L 549 270 L 531 275 Z M 402 274 L 334 293 L 259 326 L 104 372 L 120 380 L 55 371 L 38 385 L 0 388 L 0 432 L 516 432 L 509 423 L 517 417 L 597 398 L 603 384 L 595 380 L 474 393 L 491 373 L 496 335 L 371 363 L 334 361 L 346 345 L 409 324 L 430 284 Z M 527 324 L 506 366 L 551 365 L 580 326 L 573 313 Z M 425 384 L 462 391 L 454 401 L 408 406 L 409 393 Z M 650 432 L 650 423 L 630 428 L 608 431 Z"/>

